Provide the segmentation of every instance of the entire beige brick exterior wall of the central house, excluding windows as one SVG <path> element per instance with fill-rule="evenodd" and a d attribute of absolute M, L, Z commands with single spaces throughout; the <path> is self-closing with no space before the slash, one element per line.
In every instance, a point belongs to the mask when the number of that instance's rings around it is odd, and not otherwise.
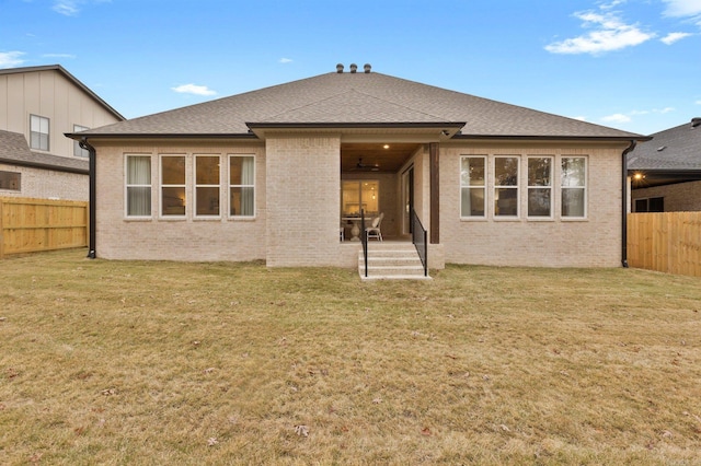
<path fill-rule="evenodd" d="M 253 260 L 268 267 L 357 266 L 358 243 L 340 244 L 341 139 L 336 136 L 267 135 L 265 143 L 220 141 L 118 147 L 95 142 L 97 149 L 97 257 L 110 259 Z M 625 148 L 600 144 L 443 143 L 440 148 L 440 244 L 432 245 L 432 268 L 445 263 L 493 266 L 618 267 L 621 259 L 621 153 Z M 125 217 L 125 154 L 151 156 L 152 217 Z M 159 154 L 186 158 L 187 214 L 160 219 Z M 220 154 L 222 160 L 221 218 L 195 219 L 192 211 L 193 167 L 196 154 Z M 229 219 L 227 168 L 229 154 L 254 154 L 256 217 Z M 491 179 L 494 155 L 519 155 L 520 215 L 494 220 L 460 218 L 460 156 L 487 155 Z M 527 155 L 552 155 L 553 218 L 529 220 Z M 560 160 L 585 156 L 587 217 L 560 215 Z M 415 173 L 415 207 L 429 219 L 429 163 L 426 148 L 411 161 Z M 360 175 L 345 174 L 345 177 Z M 366 175 L 361 175 L 366 176 Z M 368 177 L 379 178 L 368 174 Z M 381 208 L 394 215 L 388 233 L 399 231 L 401 173 L 381 175 Z M 384 194 L 383 189 L 391 193 Z M 487 205 L 492 201 L 487 184 Z M 388 206 L 386 202 L 389 202 Z M 391 206 L 391 203 L 397 206 Z"/>

